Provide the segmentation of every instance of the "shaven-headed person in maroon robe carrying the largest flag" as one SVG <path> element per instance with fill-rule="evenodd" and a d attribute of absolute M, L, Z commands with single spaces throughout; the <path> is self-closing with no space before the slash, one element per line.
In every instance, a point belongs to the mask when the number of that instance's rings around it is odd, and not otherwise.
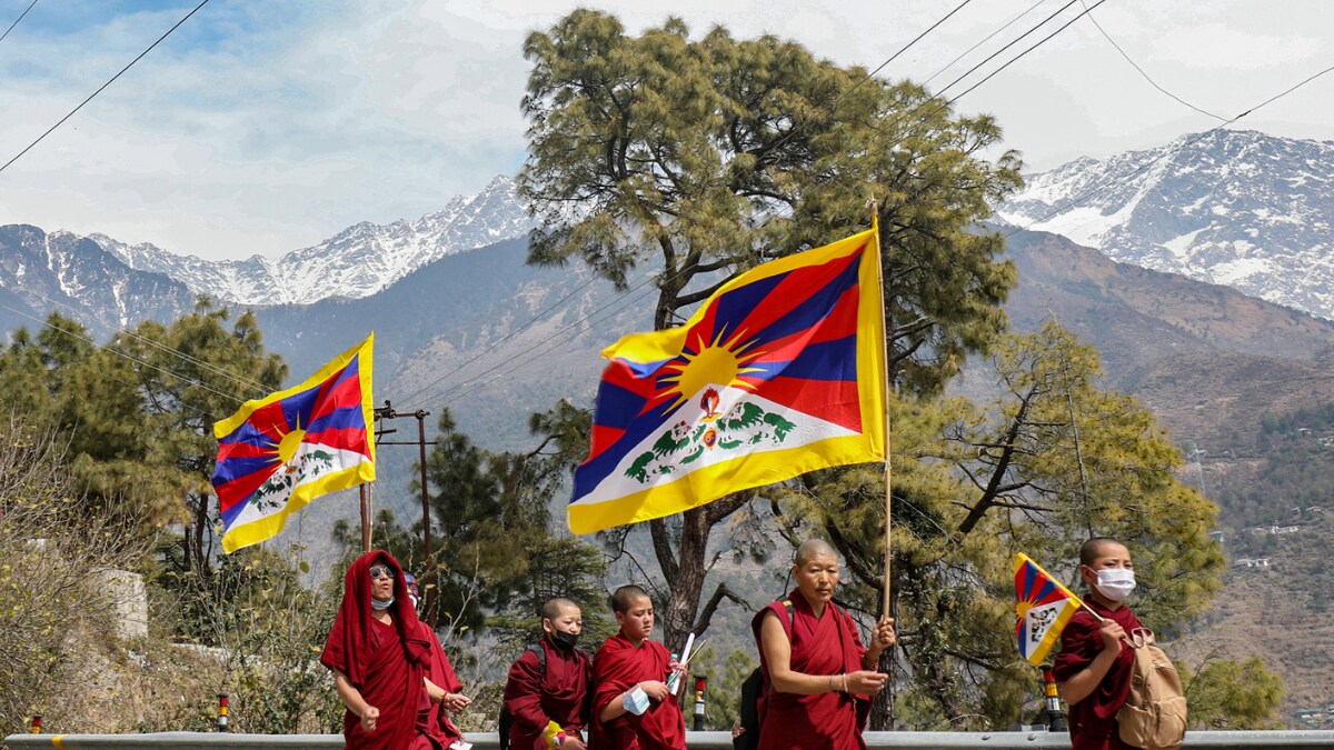
<path fill-rule="evenodd" d="M 811 539 L 796 548 L 796 590 L 755 615 L 764 698 L 759 706 L 759 750 L 866 749 L 862 731 L 871 695 L 886 675 L 875 671 L 895 642 L 894 621 L 875 626 L 862 646 L 856 622 L 832 602 L 839 563 L 834 548 Z"/>

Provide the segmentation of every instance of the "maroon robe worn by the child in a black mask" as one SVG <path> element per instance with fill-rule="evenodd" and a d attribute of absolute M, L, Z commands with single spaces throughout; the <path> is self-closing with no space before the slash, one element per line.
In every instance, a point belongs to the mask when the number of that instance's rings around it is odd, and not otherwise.
<path fill-rule="evenodd" d="M 547 655 L 547 674 L 542 675 L 538 655 L 524 651 L 510 667 L 504 685 L 504 705 L 514 717 L 510 747 L 546 750 L 543 731 L 556 722 L 566 733 L 580 731 L 588 725 L 592 698 L 592 663 L 572 649 L 558 649 L 543 638 L 538 646 Z"/>

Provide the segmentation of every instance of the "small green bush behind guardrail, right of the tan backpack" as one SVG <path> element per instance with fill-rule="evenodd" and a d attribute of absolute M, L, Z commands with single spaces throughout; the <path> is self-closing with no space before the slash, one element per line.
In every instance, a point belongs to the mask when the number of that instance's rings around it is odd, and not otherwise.
<path fill-rule="evenodd" d="M 1278 729 L 1274 721 L 1283 699 L 1283 681 L 1251 658 L 1207 662 L 1191 674 L 1178 663 L 1191 729 Z"/>

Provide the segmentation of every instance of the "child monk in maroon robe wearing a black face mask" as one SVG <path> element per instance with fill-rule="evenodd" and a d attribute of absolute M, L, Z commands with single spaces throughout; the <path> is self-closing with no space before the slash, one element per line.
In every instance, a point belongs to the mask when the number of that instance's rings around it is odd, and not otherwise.
<path fill-rule="evenodd" d="M 546 654 L 547 667 L 542 669 L 531 650 L 510 667 L 504 686 L 504 705 L 514 717 L 510 747 L 586 750 L 580 733 L 588 725 L 592 662 L 576 649 L 582 631 L 583 614 L 570 599 L 558 597 L 542 606 L 538 647 Z"/>

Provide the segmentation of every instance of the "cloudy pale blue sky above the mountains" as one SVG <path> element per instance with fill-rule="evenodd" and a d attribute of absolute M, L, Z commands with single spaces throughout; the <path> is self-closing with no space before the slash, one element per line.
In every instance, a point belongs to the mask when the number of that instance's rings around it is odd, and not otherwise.
<path fill-rule="evenodd" d="M 604 0 L 631 31 L 795 39 L 879 65 L 960 0 Z M 882 75 L 939 88 L 1066 0 L 974 0 Z M 1083 9 L 1078 0 L 1027 48 Z M 0 33 L 32 0 L 0 0 Z M 197 0 L 40 0 L 0 41 L 0 164 Z M 212 0 L 0 172 L 0 224 L 103 232 L 203 258 L 279 255 L 363 220 L 440 210 L 524 159 L 526 33 L 566 0 Z M 1022 13 L 1022 17 L 1019 17 Z M 1005 24 L 1006 31 L 946 68 Z M 1222 117 L 1334 65 L 1327 0 L 1107 0 L 1107 36 L 1161 87 Z M 1163 144 L 1218 120 L 1157 91 L 1089 17 L 964 96 L 1033 169 Z M 940 72 L 943 69 L 943 72 Z M 938 75 L 939 72 L 939 75 Z M 960 91 L 968 83 L 951 91 Z M 1235 127 L 1334 139 L 1334 73 Z"/>

